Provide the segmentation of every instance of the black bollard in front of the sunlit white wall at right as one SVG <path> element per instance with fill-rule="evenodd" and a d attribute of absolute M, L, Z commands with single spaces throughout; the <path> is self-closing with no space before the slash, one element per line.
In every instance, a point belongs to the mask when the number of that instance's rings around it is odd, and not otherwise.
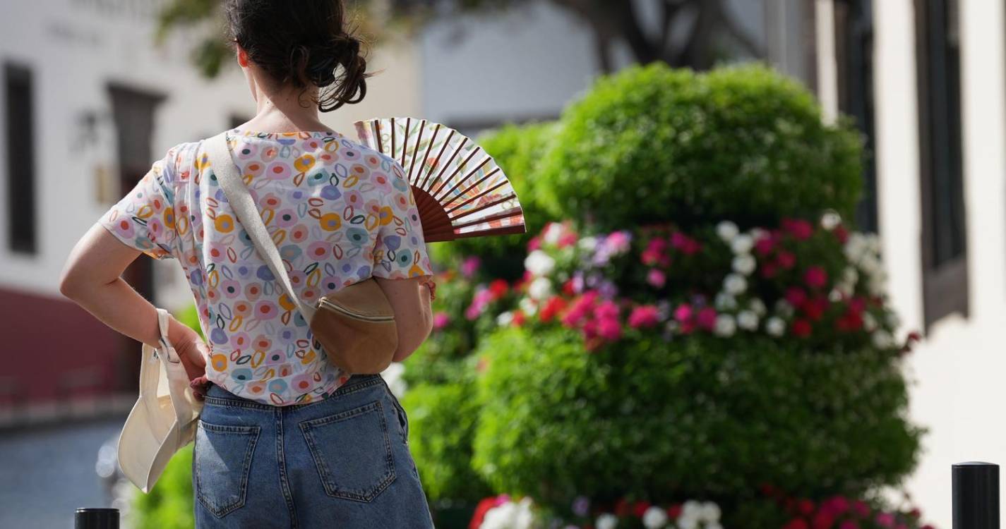
<path fill-rule="evenodd" d="M 999 529 L 999 466 L 954 466 L 954 529 Z"/>

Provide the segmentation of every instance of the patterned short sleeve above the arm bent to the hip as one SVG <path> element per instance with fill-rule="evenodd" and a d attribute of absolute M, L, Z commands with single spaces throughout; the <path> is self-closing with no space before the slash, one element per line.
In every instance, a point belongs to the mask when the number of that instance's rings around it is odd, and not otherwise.
<path fill-rule="evenodd" d="M 154 162 L 147 174 L 99 220 L 124 244 L 158 259 L 174 257 L 176 149 Z"/>

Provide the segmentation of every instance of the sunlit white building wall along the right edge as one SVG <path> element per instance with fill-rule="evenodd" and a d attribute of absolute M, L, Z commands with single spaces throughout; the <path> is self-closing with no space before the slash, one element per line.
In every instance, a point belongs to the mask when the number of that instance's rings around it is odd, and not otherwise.
<path fill-rule="evenodd" d="M 873 5 L 880 234 L 903 334 L 923 328 L 914 8 L 912 0 Z M 930 428 L 906 485 L 938 527 L 952 524 L 953 464 L 1006 464 L 997 414 L 1006 399 L 1006 20 L 999 2 L 961 0 L 960 9 L 971 316 L 938 322 L 906 362 L 910 414 Z"/>

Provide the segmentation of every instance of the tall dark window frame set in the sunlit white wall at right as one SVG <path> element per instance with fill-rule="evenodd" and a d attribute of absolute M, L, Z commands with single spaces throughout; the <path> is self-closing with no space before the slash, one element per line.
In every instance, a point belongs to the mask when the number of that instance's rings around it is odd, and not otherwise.
<path fill-rule="evenodd" d="M 926 330 L 969 311 L 957 0 L 915 0 L 923 303 Z"/>

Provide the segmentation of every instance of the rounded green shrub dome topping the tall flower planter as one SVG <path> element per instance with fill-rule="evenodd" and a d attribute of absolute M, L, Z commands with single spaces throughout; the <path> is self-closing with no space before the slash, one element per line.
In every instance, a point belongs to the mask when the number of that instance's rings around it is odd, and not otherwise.
<path fill-rule="evenodd" d="M 554 217 L 743 227 L 829 207 L 852 218 L 860 195 L 859 136 L 823 125 L 810 92 L 763 66 L 632 66 L 560 123 L 537 175 Z"/>

